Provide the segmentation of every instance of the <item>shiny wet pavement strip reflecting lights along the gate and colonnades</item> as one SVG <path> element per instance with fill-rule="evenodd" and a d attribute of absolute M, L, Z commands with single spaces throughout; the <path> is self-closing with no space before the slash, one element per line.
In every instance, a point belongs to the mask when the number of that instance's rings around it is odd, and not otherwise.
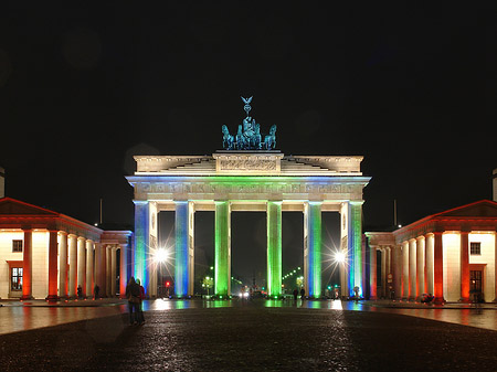
<path fill-rule="evenodd" d="M 271 308 L 313 308 L 329 310 L 377 311 L 399 313 L 411 317 L 472 326 L 489 330 L 497 330 L 496 309 L 403 309 L 376 306 L 374 302 L 355 302 L 339 300 L 169 300 L 156 299 L 144 301 L 145 311 L 166 311 L 181 309 L 209 309 L 220 307 L 271 307 Z M 0 307 L 0 334 L 22 330 L 51 327 L 92 318 L 109 317 L 127 311 L 126 305 L 96 306 L 96 307 L 29 307 L 4 306 Z"/>

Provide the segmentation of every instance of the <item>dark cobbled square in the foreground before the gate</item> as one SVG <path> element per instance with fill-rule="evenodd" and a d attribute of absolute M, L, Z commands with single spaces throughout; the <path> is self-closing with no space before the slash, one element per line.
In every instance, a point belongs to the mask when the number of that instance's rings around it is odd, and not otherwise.
<path fill-rule="evenodd" d="M 241 307 L 149 311 L 0 336 L 14 370 L 495 370 L 497 332 L 379 312 Z"/>

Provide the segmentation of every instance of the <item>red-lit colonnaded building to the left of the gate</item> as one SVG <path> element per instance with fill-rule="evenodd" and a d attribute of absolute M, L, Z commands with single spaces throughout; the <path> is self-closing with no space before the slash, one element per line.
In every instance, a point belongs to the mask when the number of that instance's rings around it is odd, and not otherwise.
<path fill-rule="evenodd" d="M 2 198 L 0 298 L 75 298 L 78 286 L 86 298 L 95 285 L 103 297 L 124 294 L 131 235 Z"/>

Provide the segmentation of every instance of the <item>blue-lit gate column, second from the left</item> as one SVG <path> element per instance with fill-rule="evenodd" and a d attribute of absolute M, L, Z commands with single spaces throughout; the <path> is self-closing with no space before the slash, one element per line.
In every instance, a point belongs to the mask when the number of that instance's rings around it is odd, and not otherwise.
<path fill-rule="evenodd" d="M 193 295 L 193 204 L 175 202 L 175 294 L 178 297 Z"/>

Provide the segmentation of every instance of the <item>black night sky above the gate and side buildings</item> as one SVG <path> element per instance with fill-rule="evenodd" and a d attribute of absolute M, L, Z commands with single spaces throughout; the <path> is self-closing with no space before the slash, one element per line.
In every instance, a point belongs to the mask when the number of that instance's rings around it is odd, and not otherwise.
<path fill-rule="evenodd" d="M 131 223 L 131 155 L 212 153 L 241 95 L 286 155 L 364 156 L 367 226 L 491 199 L 494 8 L 246 1 L 3 7 L 7 195 Z"/>

